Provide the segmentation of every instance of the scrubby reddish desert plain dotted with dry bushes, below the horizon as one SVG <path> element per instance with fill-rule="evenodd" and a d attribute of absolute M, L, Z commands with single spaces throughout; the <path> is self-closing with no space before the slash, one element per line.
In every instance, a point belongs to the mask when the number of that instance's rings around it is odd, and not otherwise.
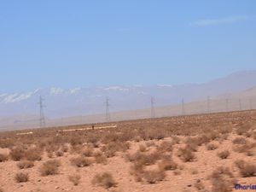
<path fill-rule="evenodd" d="M 256 111 L 0 132 L 1 192 L 225 192 L 236 184 L 256 185 Z"/>

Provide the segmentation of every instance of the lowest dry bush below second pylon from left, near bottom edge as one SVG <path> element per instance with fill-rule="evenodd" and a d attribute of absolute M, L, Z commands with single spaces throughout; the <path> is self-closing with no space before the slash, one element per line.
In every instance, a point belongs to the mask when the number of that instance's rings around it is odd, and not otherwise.
<path fill-rule="evenodd" d="M 93 177 L 91 183 L 94 185 L 101 186 L 105 189 L 109 189 L 117 185 L 117 183 L 113 179 L 113 176 L 108 172 L 103 172 L 102 174 L 96 174 L 96 176 Z"/>

